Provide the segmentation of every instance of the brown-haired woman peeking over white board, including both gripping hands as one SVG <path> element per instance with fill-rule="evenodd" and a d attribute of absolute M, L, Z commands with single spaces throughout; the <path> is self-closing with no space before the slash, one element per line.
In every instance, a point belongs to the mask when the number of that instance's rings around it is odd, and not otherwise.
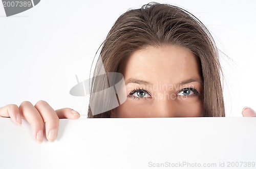
<path fill-rule="evenodd" d="M 101 63 L 108 76 L 101 75 Z M 114 93 L 106 90 L 113 85 L 109 72 L 123 75 L 123 85 Z M 88 117 L 224 117 L 220 73 L 215 42 L 195 16 L 175 6 L 147 4 L 121 15 L 106 37 L 94 72 Z M 123 93 L 127 97 L 121 102 Z M 116 98 L 118 104 L 113 105 Z M 105 108 L 112 105 L 116 108 Z M 246 107 L 242 114 L 256 116 Z M 7 105 L 0 108 L 0 116 L 19 125 L 26 119 L 39 143 L 44 123 L 47 139 L 53 142 L 59 118 L 79 118 L 78 112 L 54 111 L 45 101 Z"/>

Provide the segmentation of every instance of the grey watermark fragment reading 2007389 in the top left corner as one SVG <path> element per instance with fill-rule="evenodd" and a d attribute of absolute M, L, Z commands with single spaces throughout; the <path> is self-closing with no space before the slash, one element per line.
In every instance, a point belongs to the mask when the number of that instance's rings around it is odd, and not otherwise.
<path fill-rule="evenodd" d="M 40 0 L 2 0 L 6 16 L 16 15 L 36 6 Z"/>

